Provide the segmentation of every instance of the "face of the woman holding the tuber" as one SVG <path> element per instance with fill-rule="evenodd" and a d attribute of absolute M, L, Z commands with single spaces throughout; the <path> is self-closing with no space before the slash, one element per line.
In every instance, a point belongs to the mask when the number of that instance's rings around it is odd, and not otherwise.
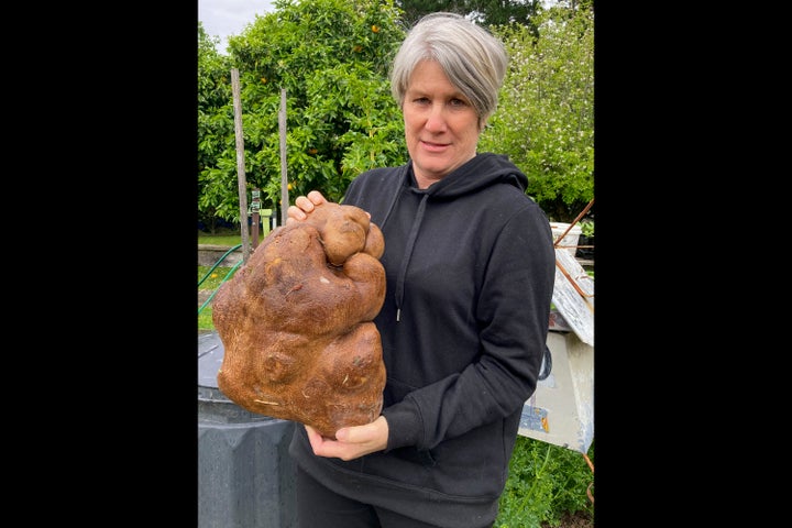
<path fill-rule="evenodd" d="M 413 72 L 402 113 L 418 186 L 442 179 L 476 153 L 479 116 L 435 61 Z"/>

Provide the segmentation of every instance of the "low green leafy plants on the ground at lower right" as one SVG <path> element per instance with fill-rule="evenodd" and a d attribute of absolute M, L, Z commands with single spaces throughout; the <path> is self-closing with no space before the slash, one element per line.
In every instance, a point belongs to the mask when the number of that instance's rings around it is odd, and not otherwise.
<path fill-rule="evenodd" d="M 593 464 L 593 442 L 587 455 Z M 582 453 L 517 437 L 494 527 L 540 528 L 542 522 L 559 526 L 564 513 L 586 512 L 593 517 L 594 505 L 586 494 L 593 480 Z"/>

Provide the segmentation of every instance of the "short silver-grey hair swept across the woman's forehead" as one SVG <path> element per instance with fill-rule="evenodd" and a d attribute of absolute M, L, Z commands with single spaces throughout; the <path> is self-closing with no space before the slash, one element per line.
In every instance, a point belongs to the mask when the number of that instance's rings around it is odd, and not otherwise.
<path fill-rule="evenodd" d="M 503 42 L 485 29 L 455 13 L 430 13 L 420 19 L 402 43 L 391 69 L 391 92 L 399 107 L 421 61 L 440 65 L 451 84 L 470 99 L 480 124 L 495 112 L 508 56 Z"/>

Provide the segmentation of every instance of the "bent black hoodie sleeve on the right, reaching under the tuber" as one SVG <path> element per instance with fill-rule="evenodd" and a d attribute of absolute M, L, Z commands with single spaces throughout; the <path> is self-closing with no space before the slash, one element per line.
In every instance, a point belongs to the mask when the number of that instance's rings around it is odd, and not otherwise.
<path fill-rule="evenodd" d="M 383 409 L 386 451 L 431 449 L 521 409 L 537 385 L 554 276 L 550 224 L 530 202 L 494 237 L 475 308 L 479 360 Z"/>

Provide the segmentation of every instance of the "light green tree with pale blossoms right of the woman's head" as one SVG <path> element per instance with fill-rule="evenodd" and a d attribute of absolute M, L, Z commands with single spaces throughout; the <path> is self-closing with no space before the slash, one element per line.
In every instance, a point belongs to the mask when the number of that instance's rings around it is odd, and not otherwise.
<path fill-rule="evenodd" d="M 493 29 L 510 64 L 480 151 L 508 154 L 550 219 L 570 222 L 594 197 L 594 13 L 553 8 L 536 23 L 539 37 Z"/>

